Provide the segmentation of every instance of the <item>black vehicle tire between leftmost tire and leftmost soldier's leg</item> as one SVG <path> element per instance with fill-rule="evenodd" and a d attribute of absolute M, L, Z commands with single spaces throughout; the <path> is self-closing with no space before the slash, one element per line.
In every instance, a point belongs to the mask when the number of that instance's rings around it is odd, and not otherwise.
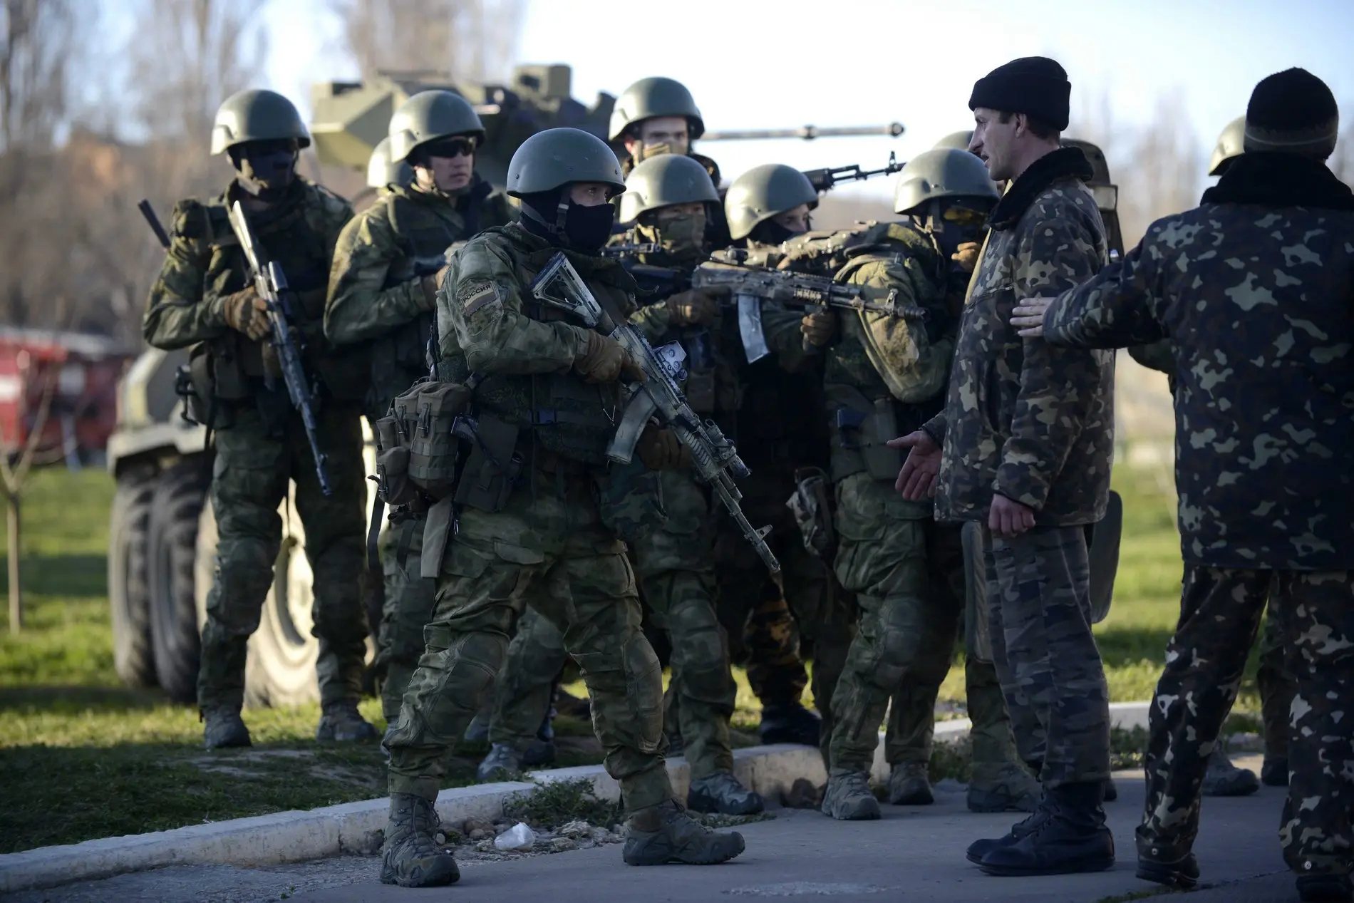
<path fill-rule="evenodd" d="M 198 699 L 202 636 L 194 571 L 206 497 L 199 455 L 164 471 L 150 501 L 150 636 L 160 686 L 176 703 Z"/>

